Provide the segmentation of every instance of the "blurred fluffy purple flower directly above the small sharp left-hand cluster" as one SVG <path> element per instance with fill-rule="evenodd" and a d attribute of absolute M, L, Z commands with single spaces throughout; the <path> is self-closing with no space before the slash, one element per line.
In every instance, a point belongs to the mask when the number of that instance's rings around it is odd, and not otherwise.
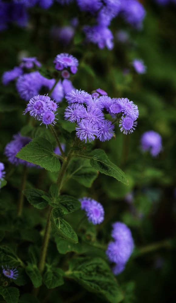
<path fill-rule="evenodd" d="M 21 75 L 16 82 L 17 91 L 25 101 L 29 101 L 33 96 L 38 95 L 41 87 L 42 76 L 38 71 Z"/>

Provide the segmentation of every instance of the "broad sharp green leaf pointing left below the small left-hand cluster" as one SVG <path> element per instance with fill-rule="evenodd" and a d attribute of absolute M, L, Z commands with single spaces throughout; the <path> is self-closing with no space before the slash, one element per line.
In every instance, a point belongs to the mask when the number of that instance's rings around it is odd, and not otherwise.
<path fill-rule="evenodd" d="M 16 157 L 40 165 L 52 172 L 59 171 L 61 167 L 51 143 L 45 138 L 34 138 L 17 153 Z"/>

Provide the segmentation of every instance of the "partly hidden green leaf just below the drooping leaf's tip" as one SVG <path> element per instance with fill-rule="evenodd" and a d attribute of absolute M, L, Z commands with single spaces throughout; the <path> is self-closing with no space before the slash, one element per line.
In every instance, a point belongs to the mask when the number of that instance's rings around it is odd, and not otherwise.
<path fill-rule="evenodd" d="M 57 246 L 57 250 L 60 254 L 66 254 L 67 252 L 74 251 L 74 252 L 81 252 L 82 246 L 80 243 L 74 244 L 70 243 L 64 239 L 61 239 L 58 237 L 58 235 L 55 235 L 55 242 Z"/>

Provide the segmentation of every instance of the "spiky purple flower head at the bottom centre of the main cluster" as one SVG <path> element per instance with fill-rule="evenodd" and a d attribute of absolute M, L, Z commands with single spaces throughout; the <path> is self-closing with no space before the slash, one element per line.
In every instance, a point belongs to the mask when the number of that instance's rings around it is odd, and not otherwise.
<path fill-rule="evenodd" d="M 97 133 L 97 126 L 94 122 L 88 119 L 82 119 L 80 122 L 78 122 L 78 126 L 76 127 L 76 135 L 81 141 L 85 140 L 85 142 L 87 142 L 88 139 L 89 142 L 92 142 Z"/>

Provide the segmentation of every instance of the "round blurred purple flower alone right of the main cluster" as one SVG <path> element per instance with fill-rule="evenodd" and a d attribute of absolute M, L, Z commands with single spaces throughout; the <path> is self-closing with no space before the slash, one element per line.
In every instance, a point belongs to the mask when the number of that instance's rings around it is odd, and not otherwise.
<path fill-rule="evenodd" d="M 140 145 L 144 151 L 150 151 L 156 157 L 162 150 L 162 138 L 157 132 L 147 131 L 141 136 Z"/>

